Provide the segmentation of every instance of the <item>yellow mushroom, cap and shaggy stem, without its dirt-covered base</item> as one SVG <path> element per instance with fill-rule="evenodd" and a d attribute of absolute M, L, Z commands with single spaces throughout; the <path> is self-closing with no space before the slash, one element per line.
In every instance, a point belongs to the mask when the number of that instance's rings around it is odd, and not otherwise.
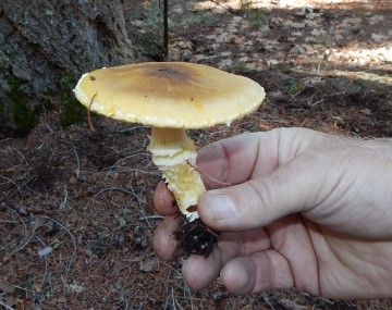
<path fill-rule="evenodd" d="M 96 70 L 81 77 L 74 92 L 91 111 L 151 126 L 152 161 L 191 222 L 198 218 L 197 200 L 206 188 L 186 128 L 230 125 L 265 98 L 264 88 L 247 77 L 182 62 Z"/>

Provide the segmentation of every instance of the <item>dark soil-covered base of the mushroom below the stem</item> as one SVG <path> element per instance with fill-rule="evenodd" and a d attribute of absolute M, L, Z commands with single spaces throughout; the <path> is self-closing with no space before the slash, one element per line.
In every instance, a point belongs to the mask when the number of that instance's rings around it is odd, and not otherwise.
<path fill-rule="evenodd" d="M 180 226 L 173 232 L 179 245 L 176 258 L 188 258 L 191 255 L 203 255 L 206 258 L 215 249 L 219 233 L 208 228 L 200 219 L 189 222 L 185 215 L 180 215 Z"/>

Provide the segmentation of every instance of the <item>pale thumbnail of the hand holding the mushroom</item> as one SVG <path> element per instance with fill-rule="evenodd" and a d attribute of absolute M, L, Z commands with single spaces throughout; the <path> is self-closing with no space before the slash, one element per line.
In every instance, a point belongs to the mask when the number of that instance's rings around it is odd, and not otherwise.
<path fill-rule="evenodd" d="M 237 213 L 237 208 L 233 200 L 225 194 L 208 193 L 206 202 L 215 218 L 215 220 L 226 220 L 233 218 Z"/>

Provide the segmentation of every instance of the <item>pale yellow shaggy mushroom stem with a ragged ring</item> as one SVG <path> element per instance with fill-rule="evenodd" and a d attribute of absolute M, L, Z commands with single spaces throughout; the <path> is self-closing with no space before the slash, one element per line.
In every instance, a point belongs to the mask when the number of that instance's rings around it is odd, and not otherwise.
<path fill-rule="evenodd" d="M 180 211 L 188 221 L 198 219 L 195 207 L 206 187 L 195 169 L 196 148 L 185 129 L 152 127 L 148 150 L 152 153 L 154 163 L 162 171 Z"/>

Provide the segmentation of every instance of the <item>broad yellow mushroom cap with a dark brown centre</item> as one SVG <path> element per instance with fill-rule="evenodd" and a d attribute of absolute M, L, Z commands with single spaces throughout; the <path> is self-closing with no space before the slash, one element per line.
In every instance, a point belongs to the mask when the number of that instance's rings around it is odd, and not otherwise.
<path fill-rule="evenodd" d="M 195 63 L 147 62 L 82 76 L 76 98 L 112 119 L 157 127 L 201 128 L 255 111 L 264 88 L 240 75 Z"/>

